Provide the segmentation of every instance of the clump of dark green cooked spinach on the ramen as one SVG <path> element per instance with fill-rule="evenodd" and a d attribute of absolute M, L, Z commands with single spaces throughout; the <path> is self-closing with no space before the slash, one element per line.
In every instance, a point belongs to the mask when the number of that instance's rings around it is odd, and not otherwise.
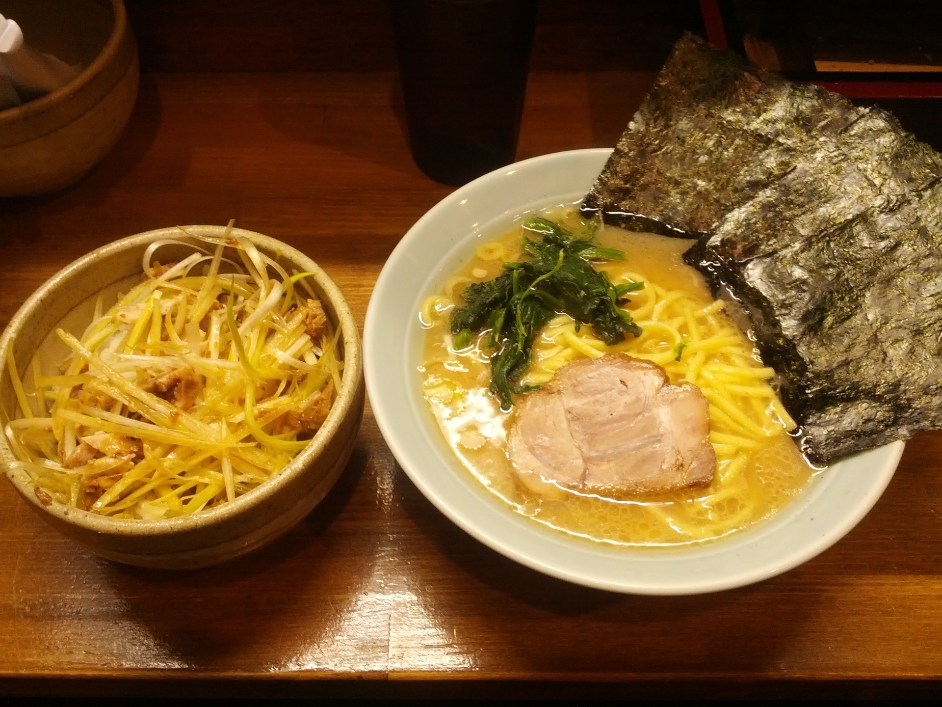
<path fill-rule="evenodd" d="M 504 271 L 493 280 L 472 283 L 463 291 L 464 306 L 451 316 L 455 346 L 463 348 L 472 333 L 490 331 L 487 345 L 491 354 L 491 392 L 500 406 L 509 410 L 513 393 L 539 386 L 518 386 L 530 362 L 533 339 L 557 313 L 577 322 L 592 324 L 607 344 L 625 340 L 625 334 L 639 336 L 641 327 L 620 307 L 623 296 L 644 287 L 643 283 L 612 285 L 604 271 L 596 271 L 593 260 L 624 260 L 614 248 L 593 245 L 558 223 L 531 218 L 523 223 L 526 231 L 540 239 L 524 237 L 524 252 L 531 259 L 504 263 Z"/>

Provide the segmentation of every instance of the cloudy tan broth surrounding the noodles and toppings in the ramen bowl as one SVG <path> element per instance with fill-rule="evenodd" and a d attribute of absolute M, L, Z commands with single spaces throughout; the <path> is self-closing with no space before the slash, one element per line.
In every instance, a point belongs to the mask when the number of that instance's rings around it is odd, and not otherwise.
<path fill-rule="evenodd" d="M 546 215 L 563 222 L 577 218 L 572 209 L 558 209 Z M 521 258 L 521 236 L 521 229 L 516 227 L 495 239 L 502 245 L 505 259 Z M 609 261 L 600 266 L 613 281 L 627 269 L 641 274 L 648 283 L 681 290 L 696 303 L 713 302 L 702 276 L 682 260 L 691 241 L 628 233 L 608 226 L 600 229 L 594 240 L 627 255 L 626 262 Z M 499 262 L 476 256 L 456 273 L 456 278 L 480 282 L 499 272 Z M 700 542 L 737 532 L 767 518 L 798 495 L 812 476 L 813 469 L 804 463 L 794 441 L 782 434 L 771 437 L 761 453 L 752 454 L 741 468 L 730 470 L 728 465 L 721 464 L 714 484 L 708 489 L 685 489 L 621 501 L 569 491 L 562 499 L 535 495 L 515 481 L 506 451 L 506 430 L 512 413 L 501 412 L 487 390 L 488 356 L 480 345 L 461 353 L 450 348 L 449 316 L 450 310 L 430 322 L 426 335 L 421 365 L 431 411 L 463 466 L 516 512 L 546 526 L 615 545 Z M 724 469 L 729 470 L 732 478 L 723 477 Z"/>

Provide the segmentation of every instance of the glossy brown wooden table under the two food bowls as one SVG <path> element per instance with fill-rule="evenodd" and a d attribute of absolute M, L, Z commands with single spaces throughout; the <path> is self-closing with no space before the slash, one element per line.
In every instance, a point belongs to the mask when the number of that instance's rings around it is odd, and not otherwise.
<path fill-rule="evenodd" d="M 651 80 L 533 74 L 519 156 L 613 144 Z M 96 246 L 230 218 L 314 257 L 362 322 L 398 238 L 448 191 L 409 156 L 396 74 L 145 74 L 127 132 L 88 178 L 0 200 L 0 325 Z M 804 566 L 707 596 L 608 594 L 463 534 L 367 411 L 328 499 L 223 567 L 111 564 L 0 483 L 0 692 L 934 693 L 940 509 L 942 435 L 920 435 L 869 516 Z"/>

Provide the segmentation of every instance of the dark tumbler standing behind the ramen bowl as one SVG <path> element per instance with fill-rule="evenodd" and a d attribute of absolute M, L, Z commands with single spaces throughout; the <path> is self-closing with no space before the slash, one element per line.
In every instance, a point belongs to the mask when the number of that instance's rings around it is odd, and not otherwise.
<path fill-rule="evenodd" d="M 415 164 L 460 186 L 513 161 L 537 0 L 390 0 Z"/>

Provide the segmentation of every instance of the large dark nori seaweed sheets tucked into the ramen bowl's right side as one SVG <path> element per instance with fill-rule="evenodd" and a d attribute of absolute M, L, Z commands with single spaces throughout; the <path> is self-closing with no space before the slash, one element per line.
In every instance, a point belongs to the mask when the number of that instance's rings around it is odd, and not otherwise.
<path fill-rule="evenodd" d="M 687 35 L 584 207 L 699 237 L 685 257 L 750 314 L 827 463 L 942 427 L 940 176 L 884 110 Z"/>

